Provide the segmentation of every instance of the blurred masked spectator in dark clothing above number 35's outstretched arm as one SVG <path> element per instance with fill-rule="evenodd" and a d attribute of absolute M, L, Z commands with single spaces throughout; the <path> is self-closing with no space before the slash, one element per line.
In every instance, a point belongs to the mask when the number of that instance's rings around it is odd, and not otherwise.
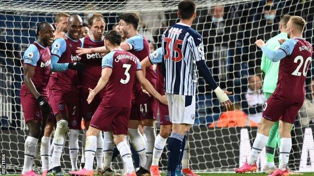
<path fill-rule="evenodd" d="M 207 65 L 212 68 L 214 79 L 219 82 L 221 88 L 229 87 L 226 82 L 231 72 L 228 65 L 230 50 L 234 48 L 237 29 L 231 34 L 232 20 L 224 19 L 223 6 L 215 6 L 210 9 L 205 18 L 200 18 L 197 30 L 202 33 L 204 49 L 206 51 Z"/>

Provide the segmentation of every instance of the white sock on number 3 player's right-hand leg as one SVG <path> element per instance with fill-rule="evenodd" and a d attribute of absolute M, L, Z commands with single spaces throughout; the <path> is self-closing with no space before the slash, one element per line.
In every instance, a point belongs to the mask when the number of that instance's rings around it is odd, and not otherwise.
<path fill-rule="evenodd" d="M 131 150 L 128 147 L 125 140 L 118 143 L 117 148 L 120 152 L 120 155 L 122 156 L 123 162 L 126 164 L 126 172 L 132 173 L 134 171 L 132 156 L 131 156 Z"/>

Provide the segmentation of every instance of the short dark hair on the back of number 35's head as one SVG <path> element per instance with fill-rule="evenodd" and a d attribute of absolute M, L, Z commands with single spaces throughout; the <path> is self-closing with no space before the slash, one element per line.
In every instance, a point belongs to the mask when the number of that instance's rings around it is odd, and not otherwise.
<path fill-rule="evenodd" d="M 183 0 L 178 5 L 178 11 L 182 20 L 190 19 L 196 10 L 196 5 L 192 0 Z"/>

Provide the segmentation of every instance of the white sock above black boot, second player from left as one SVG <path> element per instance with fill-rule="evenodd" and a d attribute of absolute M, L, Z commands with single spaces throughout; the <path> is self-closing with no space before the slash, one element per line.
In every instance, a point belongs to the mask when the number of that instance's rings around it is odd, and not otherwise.
<path fill-rule="evenodd" d="M 49 169 L 54 168 L 56 166 L 61 166 L 60 158 L 62 154 L 63 144 L 64 144 L 64 137 L 67 132 L 67 121 L 60 120 L 57 122 L 57 127 L 54 131 L 54 137 L 52 140 L 53 143 L 53 152 L 52 152 L 52 164 L 50 165 Z"/>

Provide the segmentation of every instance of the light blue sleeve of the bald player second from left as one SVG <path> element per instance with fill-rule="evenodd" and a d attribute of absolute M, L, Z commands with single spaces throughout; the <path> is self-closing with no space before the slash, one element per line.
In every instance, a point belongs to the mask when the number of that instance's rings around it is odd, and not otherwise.
<path fill-rule="evenodd" d="M 67 70 L 68 63 L 59 64 L 58 61 L 61 55 L 66 50 L 66 42 L 64 39 L 59 38 L 55 40 L 51 46 L 51 64 L 50 69 L 52 72 L 59 72 Z"/>

